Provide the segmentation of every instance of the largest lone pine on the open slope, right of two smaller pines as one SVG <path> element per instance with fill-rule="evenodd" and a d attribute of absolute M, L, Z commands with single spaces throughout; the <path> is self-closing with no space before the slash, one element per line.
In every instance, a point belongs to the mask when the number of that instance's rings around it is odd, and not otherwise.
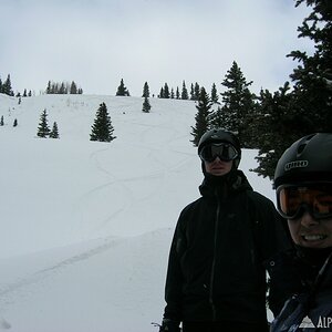
<path fill-rule="evenodd" d="M 113 132 L 114 127 L 112 125 L 106 104 L 102 103 L 100 104 L 94 124 L 92 125 L 90 141 L 112 142 L 114 138 L 116 138 L 116 136 L 113 136 Z"/>

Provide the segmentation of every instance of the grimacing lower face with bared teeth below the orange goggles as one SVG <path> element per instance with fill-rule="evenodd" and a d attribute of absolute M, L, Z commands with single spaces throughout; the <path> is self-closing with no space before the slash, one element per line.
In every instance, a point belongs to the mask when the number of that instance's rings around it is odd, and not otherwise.
<path fill-rule="evenodd" d="M 307 248 L 332 247 L 332 218 L 315 220 L 308 211 L 302 217 L 288 220 L 293 241 Z"/>

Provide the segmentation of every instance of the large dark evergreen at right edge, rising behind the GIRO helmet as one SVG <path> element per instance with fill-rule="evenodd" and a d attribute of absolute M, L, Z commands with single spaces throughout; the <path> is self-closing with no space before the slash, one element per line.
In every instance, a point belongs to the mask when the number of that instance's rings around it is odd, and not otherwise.
<path fill-rule="evenodd" d="M 312 12 L 303 20 L 299 38 L 314 42 L 312 55 L 293 51 L 288 56 L 300 62 L 289 82 L 271 94 L 260 95 L 259 167 L 262 176 L 273 178 L 281 154 L 300 137 L 313 132 L 331 132 L 332 127 L 332 6 L 325 0 L 298 0 L 295 7 L 307 3 Z M 268 129 L 266 129 L 268 128 Z"/>

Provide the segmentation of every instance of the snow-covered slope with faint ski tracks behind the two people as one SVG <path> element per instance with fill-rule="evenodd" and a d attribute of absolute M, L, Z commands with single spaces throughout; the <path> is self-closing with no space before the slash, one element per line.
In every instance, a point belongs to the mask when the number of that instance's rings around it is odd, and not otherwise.
<path fill-rule="evenodd" d="M 107 105 L 112 143 L 90 142 Z M 168 248 L 181 208 L 199 196 L 190 101 L 0 94 L 0 330 L 157 331 Z M 41 112 L 60 139 L 37 138 Z M 14 118 L 18 127 L 12 127 Z M 269 180 L 240 168 L 273 199 Z"/>

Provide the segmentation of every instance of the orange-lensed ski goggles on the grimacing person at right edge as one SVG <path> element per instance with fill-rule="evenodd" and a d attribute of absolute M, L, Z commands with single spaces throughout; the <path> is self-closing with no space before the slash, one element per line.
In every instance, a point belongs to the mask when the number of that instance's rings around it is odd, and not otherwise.
<path fill-rule="evenodd" d="M 332 183 L 280 186 L 277 208 L 287 219 L 298 219 L 304 211 L 314 219 L 332 218 Z"/>

